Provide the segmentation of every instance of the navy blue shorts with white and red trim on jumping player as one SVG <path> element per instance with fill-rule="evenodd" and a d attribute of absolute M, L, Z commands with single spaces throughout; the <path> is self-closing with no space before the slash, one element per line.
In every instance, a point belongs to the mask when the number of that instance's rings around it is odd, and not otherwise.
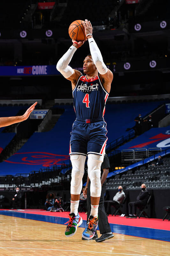
<path fill-rule="evenodd" d="M 76 118 L 72 126 L 70 153 L 87 155 L 89 153 L 102 156 L 106 148 L 106 122 L 103 118 Z"/>

